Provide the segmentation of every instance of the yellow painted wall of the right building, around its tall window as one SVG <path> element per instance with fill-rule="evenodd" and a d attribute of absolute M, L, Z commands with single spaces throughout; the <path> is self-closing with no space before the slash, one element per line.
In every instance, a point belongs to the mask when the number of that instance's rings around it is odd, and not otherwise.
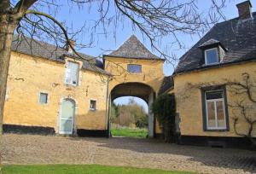
<path fill-rule="evenodd" d="M 203 131 L 202 125 L 202 104 L 201 90 L 199 85 L 225 84 L 227 81 L 242 81 L 242 73 L 249 73 L 250 77 L 256 82 L 256 62 L 247 62 L 241 65 L 232 65 L 226 67 L 212 68 L 205 71 L 184 73 L 174 77 L 174 91 L 177 98 L 177 113 L 179 113 L 181 122 L 180 130 L 184 136 L 236 136 L 233 126 L 233 118 L 238 115 L 237 111 L 228 107 L 230 131 Z M 232 104 L 245 97 L 236 95 L 227 86 L 227 102 Z M 256 91 L 253 95 L 255 97 Z M 247 100 L 245 101 L 247 102 Z M 256 116 L 256 106 L 253 107 L 253 115 Z M 239 117 L 238 131 L 247 131 L 247 124 L 242 117 Z M 254 136 L 256 130 L 254 129 Z"/>

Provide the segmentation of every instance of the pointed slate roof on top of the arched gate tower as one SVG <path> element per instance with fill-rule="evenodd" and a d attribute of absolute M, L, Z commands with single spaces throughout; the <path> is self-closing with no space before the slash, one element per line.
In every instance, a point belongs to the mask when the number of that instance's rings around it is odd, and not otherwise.
<path fill-rule="evenodd" d="M 131 37 L 128 38 L 128 40 L 126 40 L 125 43 L 119 47 L 119 49 L 114 50 L 108 56 L 133 59 L 163 60 L 160 59 L 160 57 L 153 55 L 134 35 L 131 35 Z"/>

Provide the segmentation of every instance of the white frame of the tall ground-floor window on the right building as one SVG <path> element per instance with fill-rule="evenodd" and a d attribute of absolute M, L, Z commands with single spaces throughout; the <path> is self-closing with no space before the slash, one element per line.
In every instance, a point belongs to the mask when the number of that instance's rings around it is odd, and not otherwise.
<path fill-rule="evenodd" d="M 218 99 L 210 99 L 207 100 L 207 92 L 216 92 L 216 91 L 222 91 L 223 97 Z M 214 114 L 215 114 L 215 127 L 210 127 L 208 124 L 208 102 L 214 102 Z M 222 102 L 223 108 L 224 108 L 224 127 L 218 126 L 218 117 L 217 117 L 217 107 L 216 102 Z M 207 90 L 205 91 L 205 103 L 206 103 L 206 113 L 207 113 L 207 130 L 226 130 L 227 129 L 227 123 L 226 123 L 226 110 L 225 110 L 225 101 L 224 101 L 224 90 Z"/>

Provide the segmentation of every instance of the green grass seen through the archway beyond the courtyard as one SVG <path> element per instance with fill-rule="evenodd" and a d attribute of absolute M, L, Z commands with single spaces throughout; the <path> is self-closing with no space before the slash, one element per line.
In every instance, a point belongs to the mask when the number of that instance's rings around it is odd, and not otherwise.
<path fill-rule="evenodd" d="M 126 136 L 126 137 L 141 137 L 144 138 L 148 135 L 148 130 L 146 129 L 129 129 L 129 128 L 121 128 L 121 129 L 112 129 L 112 136 Z"/>

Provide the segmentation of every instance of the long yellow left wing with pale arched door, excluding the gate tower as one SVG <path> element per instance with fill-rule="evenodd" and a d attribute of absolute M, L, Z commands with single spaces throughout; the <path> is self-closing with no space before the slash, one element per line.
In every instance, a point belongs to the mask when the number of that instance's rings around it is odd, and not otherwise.
<path fill-rule="evenodd" d="M 107 136 L 110 74 L 90 55 L 20 41 L 11 53 L 3 130 Z"/>

